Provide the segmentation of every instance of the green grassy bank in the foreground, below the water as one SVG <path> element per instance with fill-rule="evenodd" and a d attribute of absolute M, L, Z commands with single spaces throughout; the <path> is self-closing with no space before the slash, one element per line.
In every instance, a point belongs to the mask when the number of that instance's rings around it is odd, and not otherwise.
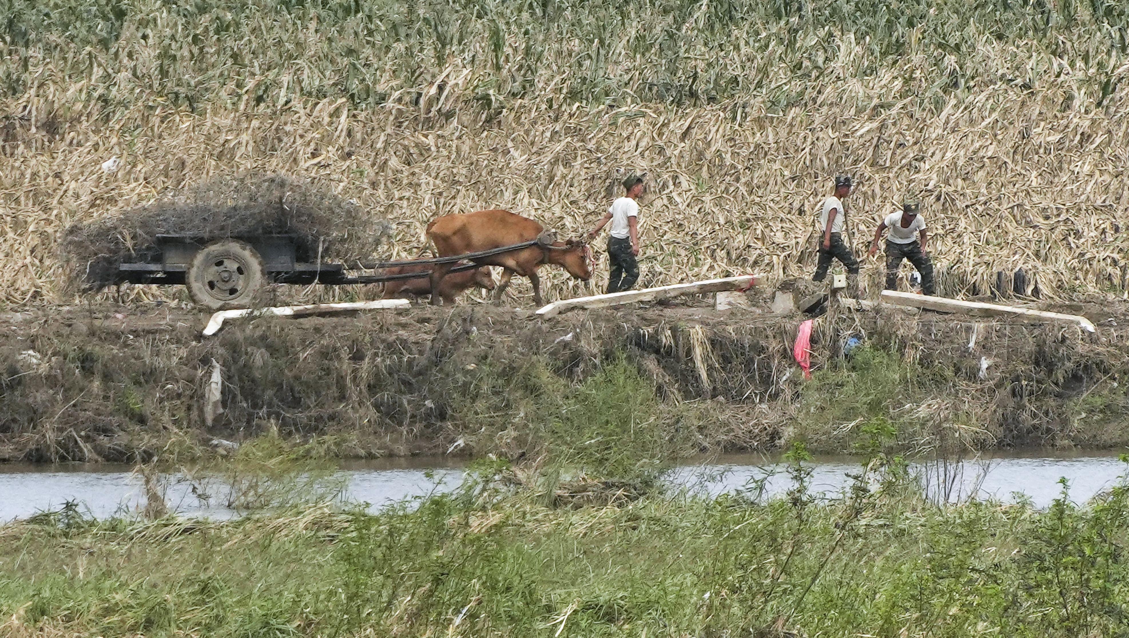
<path fill-rule="evenodd" d="M 919 496 L 628 492 L 505 465 L 379 515 L 0 527 L 0 631 L 32 636 L 1109 636 L 1129 490 L 1047 510 Z M 861 470 L 861 469 L 860 469 Z M 791 472 L 803 480 L 803 465 Z M 557 478 L 554 478 L 557 477 Z M 581 481 L 583 482 L 583 481 Z M 586 484 L 593 484 L 590 481 Z M 755 486 L 751 486 L 755 488 Z M 630 496 L 628 496 L 630 493 Z M 639 495 L 642 493 L 640 497 Z M 796 633 L 786 633 L 796 632 Z"/>

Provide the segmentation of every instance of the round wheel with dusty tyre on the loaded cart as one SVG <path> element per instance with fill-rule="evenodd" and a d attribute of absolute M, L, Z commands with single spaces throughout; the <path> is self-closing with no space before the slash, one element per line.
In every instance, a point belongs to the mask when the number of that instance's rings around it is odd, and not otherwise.
<path fill-rule="evenodd" d="M 263 259 L 244 242 L 222 239 L 192 257 L 185 281 L 192 300 L 212 311 L 246 308 L 263 287 Z"/>

